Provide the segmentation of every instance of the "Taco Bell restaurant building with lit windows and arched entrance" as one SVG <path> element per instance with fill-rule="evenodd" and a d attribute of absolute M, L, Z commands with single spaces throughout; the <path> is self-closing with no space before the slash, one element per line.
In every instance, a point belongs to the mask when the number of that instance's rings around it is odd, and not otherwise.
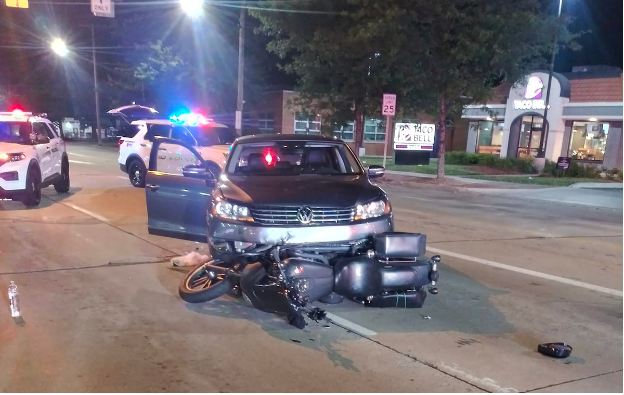
<path fill-rule="evenodd" d="M 467 106 L 466 151 L 537 157 L 545 146 L 545 158 L 552 161 L 565 156 L 622 169 L 621 69 L 587 66 L 553 73 L 544 122 L 547 84 L 548 73 L 537 71 L 522 85 L 498 87 L 485 105 Z"/>

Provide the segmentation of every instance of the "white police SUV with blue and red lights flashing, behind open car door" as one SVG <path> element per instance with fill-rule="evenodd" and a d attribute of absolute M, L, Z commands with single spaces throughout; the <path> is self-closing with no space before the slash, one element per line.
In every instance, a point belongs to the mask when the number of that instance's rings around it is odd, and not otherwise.
<path fill-rule="evenodd" d="M 226 125 L 197 114 L 183 114 L 171 119 L 145 119 L 132 121 L 119 139 L 119 167 L 127 173 L 130 183 L 138 188 L 145 186 L 145 173 L 149 164 L 151 140 L 154 137 L 167 137 L 180 140 L 193 146 L 206 159 L 213 173 L 221 171 L 236 139 Z M 179 146 L 163 144 L 159 150 L 159 160 L 168 163 L 165 170 L 172 174 L 182 174 L 182 167 L 191 164 L 195 156 Z"/>

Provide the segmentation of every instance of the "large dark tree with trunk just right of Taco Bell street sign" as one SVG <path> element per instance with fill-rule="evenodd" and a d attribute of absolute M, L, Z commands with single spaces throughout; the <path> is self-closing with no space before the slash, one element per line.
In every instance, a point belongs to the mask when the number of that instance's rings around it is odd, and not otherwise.
<path fill-rule="evenodd" d="M 537 0 L 352 0 L 354 20 L 391 42 L 389 61 L 404 80 L 404 105 L 436 114 L 438 178 L 444 177 L 446 121 L 468 103 L 485 103 L 503 81 L 546 65 L 553 35 L 574 45 Z M 373 9 L 373 10 L 371 10 Z"/>

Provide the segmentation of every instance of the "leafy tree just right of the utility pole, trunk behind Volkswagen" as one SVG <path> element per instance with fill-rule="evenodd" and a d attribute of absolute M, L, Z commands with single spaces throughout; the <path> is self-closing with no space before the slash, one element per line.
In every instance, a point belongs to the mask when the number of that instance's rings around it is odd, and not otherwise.
<path fill-rule="evenodd" d="M 297 77 L 293 106 L 322 114 L 325 127 L 355 118 L 357 152 L 365 114 L 379 113 L 384 88 L 400 81 L 384 65 L 383 43 L 362 34 L 351 17 L 359 5 L 348 0 L 278 0 L 258 6 L 264 9 L 250 11 L 262 24 L 257 31 L 272 37 L 267 49 L 282 59 L 285 72 Z"/>

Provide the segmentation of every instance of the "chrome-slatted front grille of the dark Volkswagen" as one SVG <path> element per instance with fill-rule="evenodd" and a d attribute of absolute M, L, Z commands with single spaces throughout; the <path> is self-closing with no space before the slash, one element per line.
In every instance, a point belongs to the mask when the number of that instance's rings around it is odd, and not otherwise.
<path fill-rule="evenodd" d="M 260 225 L 335 225 L 353 222 L 355 208 L 309 207 L 312 219 L 302 223 L 297 211 L 302 207 L 263 206 L 251 208 L 254 222 Z"/>

